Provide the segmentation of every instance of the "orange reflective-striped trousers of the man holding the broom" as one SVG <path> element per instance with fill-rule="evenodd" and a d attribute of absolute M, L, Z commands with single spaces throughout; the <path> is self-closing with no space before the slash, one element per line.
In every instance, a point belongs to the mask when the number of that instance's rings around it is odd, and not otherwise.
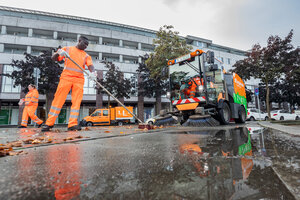
<path fill-rule="evenodd" d="M 76 80 L 76 79 L 75 79 Z M 68 127 L 78 125 L 78 116 L 80 110 L 80 104 L 83 97 L 83 81 L 70 81 L 66 79 L 60 79 L 57 86 L 54 99 L 48 114 L 46 125 L 53 126 L 56 118 L 58 117 L 62 106 L 64 105 L 67 95 L 72 90 L 72 106 L 68 122 Z"/>

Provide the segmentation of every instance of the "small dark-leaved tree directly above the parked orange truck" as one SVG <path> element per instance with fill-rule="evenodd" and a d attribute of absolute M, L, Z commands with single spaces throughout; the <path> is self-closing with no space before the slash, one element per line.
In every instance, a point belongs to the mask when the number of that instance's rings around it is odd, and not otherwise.
<path fill-rule="evenodd" d="M 129 98 L 134 93 L 133 84 L 130 79 L 124 78 L 123 73 L 111 62 L 103 62 L 108 69 L 103 79 L 98 81 L 116 98 Z M 101 90 L 98 88 L 98 90 Z M 110 96 L 108 95 L 108 107 L 110 106 Z"/>

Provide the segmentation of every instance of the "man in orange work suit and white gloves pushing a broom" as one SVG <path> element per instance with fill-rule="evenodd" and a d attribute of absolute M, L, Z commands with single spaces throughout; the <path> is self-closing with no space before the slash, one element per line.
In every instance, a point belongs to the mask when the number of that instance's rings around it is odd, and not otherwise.
<path fill-rule="evenodd" d="M 49 131 L 55 123 L 62 106 L 64 105 L 67 95 L 72 90 L 72 106 L 68 122 L 68 130 L 81 130 L 78 125 L 80 104 L 83 97 L 84 72 L 78 68 L 68 57 L 74 60 L 83 69 L 88 66 L 91 77 L 97 76 L 93 66 L 92 58 L 84 50 L 89 45 L 86 37 L 80 36 L 76 46 L 63 47 L 53 54 L 52 59 L 55 61 L 64 60 L 64 70 L 61 73 L 60 81 L 54 95 L 48 119 L 42 127 L 42 131 Z"/>

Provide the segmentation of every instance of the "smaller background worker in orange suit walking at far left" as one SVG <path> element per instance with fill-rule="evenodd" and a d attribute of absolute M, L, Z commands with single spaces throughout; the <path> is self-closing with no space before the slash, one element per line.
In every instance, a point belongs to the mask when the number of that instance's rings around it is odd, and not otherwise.
<path fill-rule="evenodd" d="M 22 115 L 22 122 L 21 126 L 19 128 L 27 128 L 28 124 L 28 117 L 31 118 L 35 123 L 38 124 L 38 127 L 40 127 L 43 124 L 43 121 L 40 120 L 34 113 L 38 107 L 39 103 L 39 92 L 37 91 L 35 85 L 30 84 L 28 86 L 29 92 L 26 94 L 25 99 L 22 99 L 20 101 L 20 105 L 25 102 L 25 108 L 23 110 L 23 115 Z"/>

